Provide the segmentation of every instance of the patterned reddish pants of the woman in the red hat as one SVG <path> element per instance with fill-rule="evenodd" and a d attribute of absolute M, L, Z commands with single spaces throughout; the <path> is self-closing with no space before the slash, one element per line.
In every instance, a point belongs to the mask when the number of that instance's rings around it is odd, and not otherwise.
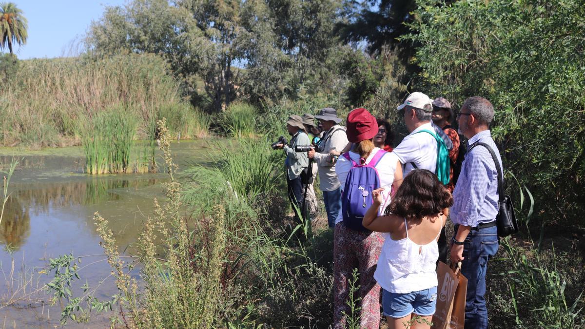
<path fill-rule="evenodd" d="M 346 318 L 351 314 L 347 305 L 349 282 L 353 269 L 359 270 L 360 328 L 380 327 L 380 286 L 374 279 L 378 256 L 384 238 L 378 232 L 360 232 L 347 228 L 343 222 L 335 225 L 333 236 L 333 328 L 345 328 Z"/>

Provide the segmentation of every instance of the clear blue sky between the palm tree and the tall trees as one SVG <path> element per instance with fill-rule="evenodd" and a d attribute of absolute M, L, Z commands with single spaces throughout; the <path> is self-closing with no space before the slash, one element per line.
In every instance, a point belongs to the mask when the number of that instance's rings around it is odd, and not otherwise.
<path fill-rule="evenodd" d="M 70 44 L 80 39 L 105 6 L 125 0 L 5 0 L 14 2 L 29 21 L 26 44 L 16 46 L 19 59 L 67 56 Z M 8 52 L 8 49 L 2 50 Z"/>

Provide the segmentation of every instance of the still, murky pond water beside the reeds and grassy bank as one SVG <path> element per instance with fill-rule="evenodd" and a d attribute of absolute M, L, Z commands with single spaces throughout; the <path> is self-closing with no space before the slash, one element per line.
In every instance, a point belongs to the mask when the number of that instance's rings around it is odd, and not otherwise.
<path fill-rule="evenodd" d="M 173 143 L 173 157 L 180 170 L 193 163 L 205 164 L 205 141 Z M 51 154 L 49 154 L 51 153 Z M 132 253 L 145 218 L 153 213 L 153 198 L 163 198 L 164 173 L 90 176 L 82 172 L 81 149 L 61 148 L 43 152 L 20 152 L 0 148 L 4 170 L 15 157 L 19 166 L 9 185 L 11 197 L 0 222 L 0 265 L 5 285 L 0 286 L 0 324 L 4 327 L 60 326 L 61 306 L 49 306 L 43 285 L 53 279 L 39 274 L 50 258 L 72 253 L 84 256 L 81 283 L 96 286 L 111 269 L 105 262 L 93 214 L 109 221 L 119 250 Z M 90 265 L 91 264 L 91 265 Z M 12 274 L 11 274 L 12 273 Z M 135 270 L 134 275 L 138 275 Z M 79 294 L 81 290 L 74 290 Z M 105 300 L 116 293 L 113 280 L 106 280 L 95 297 Z M 79 295 L 78 295 L 79 296 Z M 10 305 L 6 303 L 10 301 Z M 102 314 L 87 324 L 69 321 L 67 327 L 107 327 Z"/>

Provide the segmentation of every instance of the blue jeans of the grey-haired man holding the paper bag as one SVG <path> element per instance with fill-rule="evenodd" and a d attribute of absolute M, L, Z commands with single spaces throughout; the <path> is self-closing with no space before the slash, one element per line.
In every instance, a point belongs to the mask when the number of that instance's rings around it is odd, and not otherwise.
<path fill-rule="evenodd" d="M 487 261 L 498 251 L 497 227 L 472 229 L 463 244 L 461 273 L 467 277 L 465 328 L 487 328 Z"/>

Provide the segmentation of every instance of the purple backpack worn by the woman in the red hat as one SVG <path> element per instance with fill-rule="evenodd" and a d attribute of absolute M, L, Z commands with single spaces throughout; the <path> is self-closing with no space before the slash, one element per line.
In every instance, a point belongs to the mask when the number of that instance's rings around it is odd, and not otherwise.
<path fill-rule="evenodd" d="M 360 165 L 353 161 L 349 152 L 343 153 L 343 156 L 353 164 L 352 169 L 347 174 L 345 187 L 341 194 L 341 211 L 343 224 L 346 227 L 357 231 L 369 231 L 363 227 L 362 220 L 373 203 L 371 191 L 380 187 L 380 176 L 378 176 L 378 170 L 375 167 L 386 153 L 388 152 L 385 150 L 378 150 L 366 165 Z"/>

